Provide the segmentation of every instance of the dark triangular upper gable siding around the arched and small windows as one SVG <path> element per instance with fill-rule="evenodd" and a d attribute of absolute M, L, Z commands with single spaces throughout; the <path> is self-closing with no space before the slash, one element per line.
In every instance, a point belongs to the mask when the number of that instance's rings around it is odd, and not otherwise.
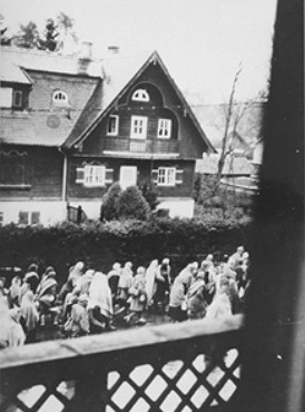
<path fill-rule="evenodd" d="M 130 101 L 131 94 L 137 89 L 137 86 L 142 87 L 146 84 L 159 90 L 161 96 L 159 100 L 163 100 L 163 104 L 159 102 L 155 106 L 155 100 L 149 104 L 135 104 Z M 160 105 L 164 105 L 164 107 Z M 195 159 L 200 158 L 203 151 L 207 149 L 205 141 L 189 116 L 186 114 L 185 108 L 181 106 L 181 101 L 176 91 L 173 89 L 158 65 L 155 66 L 151 63 L 147 68 L 137 82 L 121 96 L 117 107 L 111 111 L 111 115 L 119 116 L 118 136 L 107 136 L 107 117 L 83 141 L 83 153 L 101 155 L 102 150 L 130 150 L 131 116 L 146 116 L 148 118 L 145 151 L 179 153 L 180 158 Z M 157 137 L 159 118 L 170 118 L 173 120 L 171 137 L 168 140 Z"/>

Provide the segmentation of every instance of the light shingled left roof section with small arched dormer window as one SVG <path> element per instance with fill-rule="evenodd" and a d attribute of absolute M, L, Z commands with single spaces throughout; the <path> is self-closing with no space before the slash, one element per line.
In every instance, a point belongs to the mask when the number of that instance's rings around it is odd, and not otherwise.
<path fill-rule="evenodd" d="M 32 89 L 29 110 L 1 109 L 0 143 L 48 147 L 65 143 L 99 81 L 77 75 L 77 61 L 50 52 L 1 48 L 1 79 L 32 85 Z M 67 92 L 66 108 L 52 106 L 57 89 Z"/>

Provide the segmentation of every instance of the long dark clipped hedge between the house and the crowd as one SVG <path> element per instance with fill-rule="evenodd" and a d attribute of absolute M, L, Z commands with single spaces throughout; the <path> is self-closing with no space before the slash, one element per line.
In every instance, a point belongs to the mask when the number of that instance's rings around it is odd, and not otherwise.
<path fill-rule="evenodd" d="M 250 222 L 230 219 L 196 222 L 194 219 L 151 218 L 112 220 L 53 227 L 7 225 L 0 228 L 0 267 L 21 267 L 30 263 L 53 266 L 62 283 L 68 268 L 78 261 L 108 272 L 115 262 L 131 261 L 136 266 L 154 258 L 170 257 L 174 272 L 208 253 L 230 254 L 249 242 Z"/>

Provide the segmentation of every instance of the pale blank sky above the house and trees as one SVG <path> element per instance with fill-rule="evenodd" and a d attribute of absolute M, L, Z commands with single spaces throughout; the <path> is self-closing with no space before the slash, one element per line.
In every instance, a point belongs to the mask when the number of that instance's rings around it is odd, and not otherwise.
<path fill-rule="evenodd" d="M 266 89 L 276 0 L 0 0 L 9 33 L 65 12 L 80 41 L 101 58 L 108 46 L 124 55 L 157 50 L 194 104 L 226 102 L 238 67 L 236 98 Z"/>

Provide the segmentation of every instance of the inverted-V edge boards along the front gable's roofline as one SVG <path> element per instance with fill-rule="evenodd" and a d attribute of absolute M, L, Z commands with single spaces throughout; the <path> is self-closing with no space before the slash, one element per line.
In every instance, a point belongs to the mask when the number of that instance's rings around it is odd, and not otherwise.
<path fill-rule="evenodd" d="M 82 131 L 82 134 L 72 143 L 70 144 L 68 147 L 71 147 L 71 146 L 77 146 L 79 144 L 81 144 L 87 137 L 88 135 L 90 134 L 90 131 L 105 118 L 105 116 L 111 110 L 111 108 L 115 106 L 116 101 L 128 90 L 128 88 L 130 87 L 130 85 L 138 78 L 140 77 L 140 75 L 144 72 L 144 70 L 146 70 L 146 68 L 151 63 L 151 62 L 156 62 L 158 61 L 161 69 L 164 70 L 165 75 L 167 76 L 169 82 L 171 84 L 171 86 L 174 87 L 174 89 L 177 91 L 177 95 L 179 97 L 179 99 L 183 101 L 183 104 L 186 106 L 187 108 L 187 111 L 189 112 L 190 115 L 190 118 L 191 120 L 194 121 L 198 133 L 200 134 L 200 136 L 203 137 L 204 141 L 206 143 L 207 147 L 208 147 L 208 151 L 211 151 L 211 153 L 217 153 L 217 150 L 215 149 L 215 147 L 211 145 L 211 143 L 208 140 L 206 134 L 204 133 L 199 121 L 197 120 L 196 116 L 194 115 L 193 110 L 190 109 L 188 102 L 186 101 L 184 95 L 181 94 L 180 89 L 177 87 L 176 82 L 174 81 L 174 79 L 171 78 L 171 76 L 169 75 L 165 63 L 163 62 L 159 53 L 157 52 L 157 50 L 155 50 L 149 57 L 148 59 L 144 62 L 144 65 L 141 66 L 141 68 L 135 73 L 135 76 L 131 77 L 131 79 L 126 84 L 126 86 L 121 89 L 121 91 L 112 99 L 112 101 L 108 105 L 107 108 L 105 108 L 100 115 L 97 116 L 96 120 L 94 120 L 91 122 L 91 125 L 89 125 L 87 127 L 87 129 L 85 129 Z M 65 146 L 65 144 L 63 144 Z"/>

